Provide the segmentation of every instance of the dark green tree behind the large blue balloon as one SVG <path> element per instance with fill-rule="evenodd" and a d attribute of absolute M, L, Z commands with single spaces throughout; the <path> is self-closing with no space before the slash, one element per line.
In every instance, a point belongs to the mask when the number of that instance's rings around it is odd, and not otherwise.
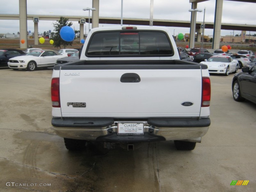
<path fill-rule="evenodd" d="M 72 22 L 68 23 L 68 18 L 65 18 L 65 17 L 60 17 L 60 20 L 57 20 L 57 22 L 53 24 L 55 31 L 56 31 L 56 33 L 51 38 L 54 41 L 54 43 L 53 43 L 54 47 L 61 48 L 61 46 L 64 46 L 64 49 L 65 49 L 66 46 L 72 45 L 72 42 L 64 41 L 60 37 L 60 29 L 64 26 L 70 27 L 71 25 L 72 25 Z"/>

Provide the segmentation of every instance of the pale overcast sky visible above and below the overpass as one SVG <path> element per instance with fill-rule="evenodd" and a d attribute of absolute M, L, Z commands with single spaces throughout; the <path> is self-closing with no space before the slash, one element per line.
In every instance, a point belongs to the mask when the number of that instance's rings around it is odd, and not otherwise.
<path fill-rule="evenodd" d="M 197 4 L 198 9 L 205 8 L 205 22 L 214 22 L 215 0 L 209 0 Z M 27 14 L 35 15 L 62 15 L 62 16 L 89 16 L 88 11 L 83 8 L 92 7 L 92 0 L 27 0 Z M 189 0 L 155 0 L 153 19 L 170 19 L 190 21 L 191 8 Z M 222 23 L 251 24 L 255 25 L 256 3 L 244 3 L 235 1 L 223 1 Z M 19 14 L 19 0 L 8 0 L 1 3 L 0 14 Z M 90 12 L 91 15 L 91 12 Z M 121 17 L 121 0 L 100 0 L 100 17 Z M 150 0 L 123 0 L 123 18 L 150 18 Z M 197 13 L 197 22 L 203 22 L 204 11 Z M 38 32 L 54 31 L 54 21 L 43 21 L 39 18 Z M 154 24 L 154 23 L 153 23 Z M 0 20 L 0 33 L 17 34 L 19 31 L 19 20 Z M 108 26 L 99 24 L 99 27 Z M 73 22 L 72 27 L 79 30 L 78 22 Z M 189 33 L 189 28 L 169 27 L 178 33 Z M 27 29 L 34 31 L 32 20 L 27 21 Z M 88 33 L 88 24 L 86 25 Z M 221 30 L 221 35 L 230 35 L 231 30 Z M 234 31 L 234 35 L 241 31 Z M 247 31 L 249 34 L 249 31 Z M 251 34 L 256 34 L 252 31 Z M 205 29 L 205 35 L 213 35 L 212 29 Z"/>

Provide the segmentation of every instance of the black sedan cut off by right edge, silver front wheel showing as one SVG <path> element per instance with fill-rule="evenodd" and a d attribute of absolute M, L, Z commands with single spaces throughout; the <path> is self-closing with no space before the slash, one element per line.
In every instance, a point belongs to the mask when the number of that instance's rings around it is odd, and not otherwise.
<path fill-rule="evenodd" d="M 235 74 L 232 81 L 232 92 L 235 101 L 245 99 L 256 104 L 256 64 L 244 67 Z"/>

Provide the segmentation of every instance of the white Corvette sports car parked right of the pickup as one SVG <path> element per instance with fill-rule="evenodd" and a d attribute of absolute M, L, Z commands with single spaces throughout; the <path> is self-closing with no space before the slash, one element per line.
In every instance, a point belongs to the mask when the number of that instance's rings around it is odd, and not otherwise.
<path fill-rule="evenodd" d="M 209 73 L 221 73 L 228 76 L 229 73 L 237 73 L 238 61 L 230 56 L 211 56 L 208 60 L 200 62 L 208 66 Z"/>

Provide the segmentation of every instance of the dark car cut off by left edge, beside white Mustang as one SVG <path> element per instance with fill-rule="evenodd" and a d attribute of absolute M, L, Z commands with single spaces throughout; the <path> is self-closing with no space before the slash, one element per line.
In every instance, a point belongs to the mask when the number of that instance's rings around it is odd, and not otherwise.
<path fill-rule="evenodd" d="M 8 67 L 7 62 L 12 57 L 26 55 L 18 49 L 0 49 L 0 67 Z"/>

